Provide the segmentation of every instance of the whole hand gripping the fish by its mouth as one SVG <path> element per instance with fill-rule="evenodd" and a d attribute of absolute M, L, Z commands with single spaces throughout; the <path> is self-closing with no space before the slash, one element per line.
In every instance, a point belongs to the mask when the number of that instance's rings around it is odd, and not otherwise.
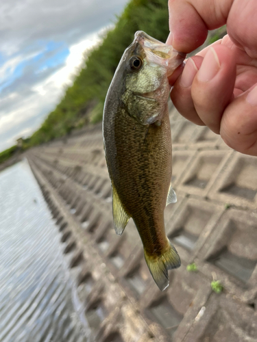
<path fill-rule="evenodd" d="M 184 53 L 227 24 L 227 36 L 173 74 L 171 100 L 234 150 L 257 156 L 257 1 L 169 0 L 169 14 L 167 43 Z"/>

